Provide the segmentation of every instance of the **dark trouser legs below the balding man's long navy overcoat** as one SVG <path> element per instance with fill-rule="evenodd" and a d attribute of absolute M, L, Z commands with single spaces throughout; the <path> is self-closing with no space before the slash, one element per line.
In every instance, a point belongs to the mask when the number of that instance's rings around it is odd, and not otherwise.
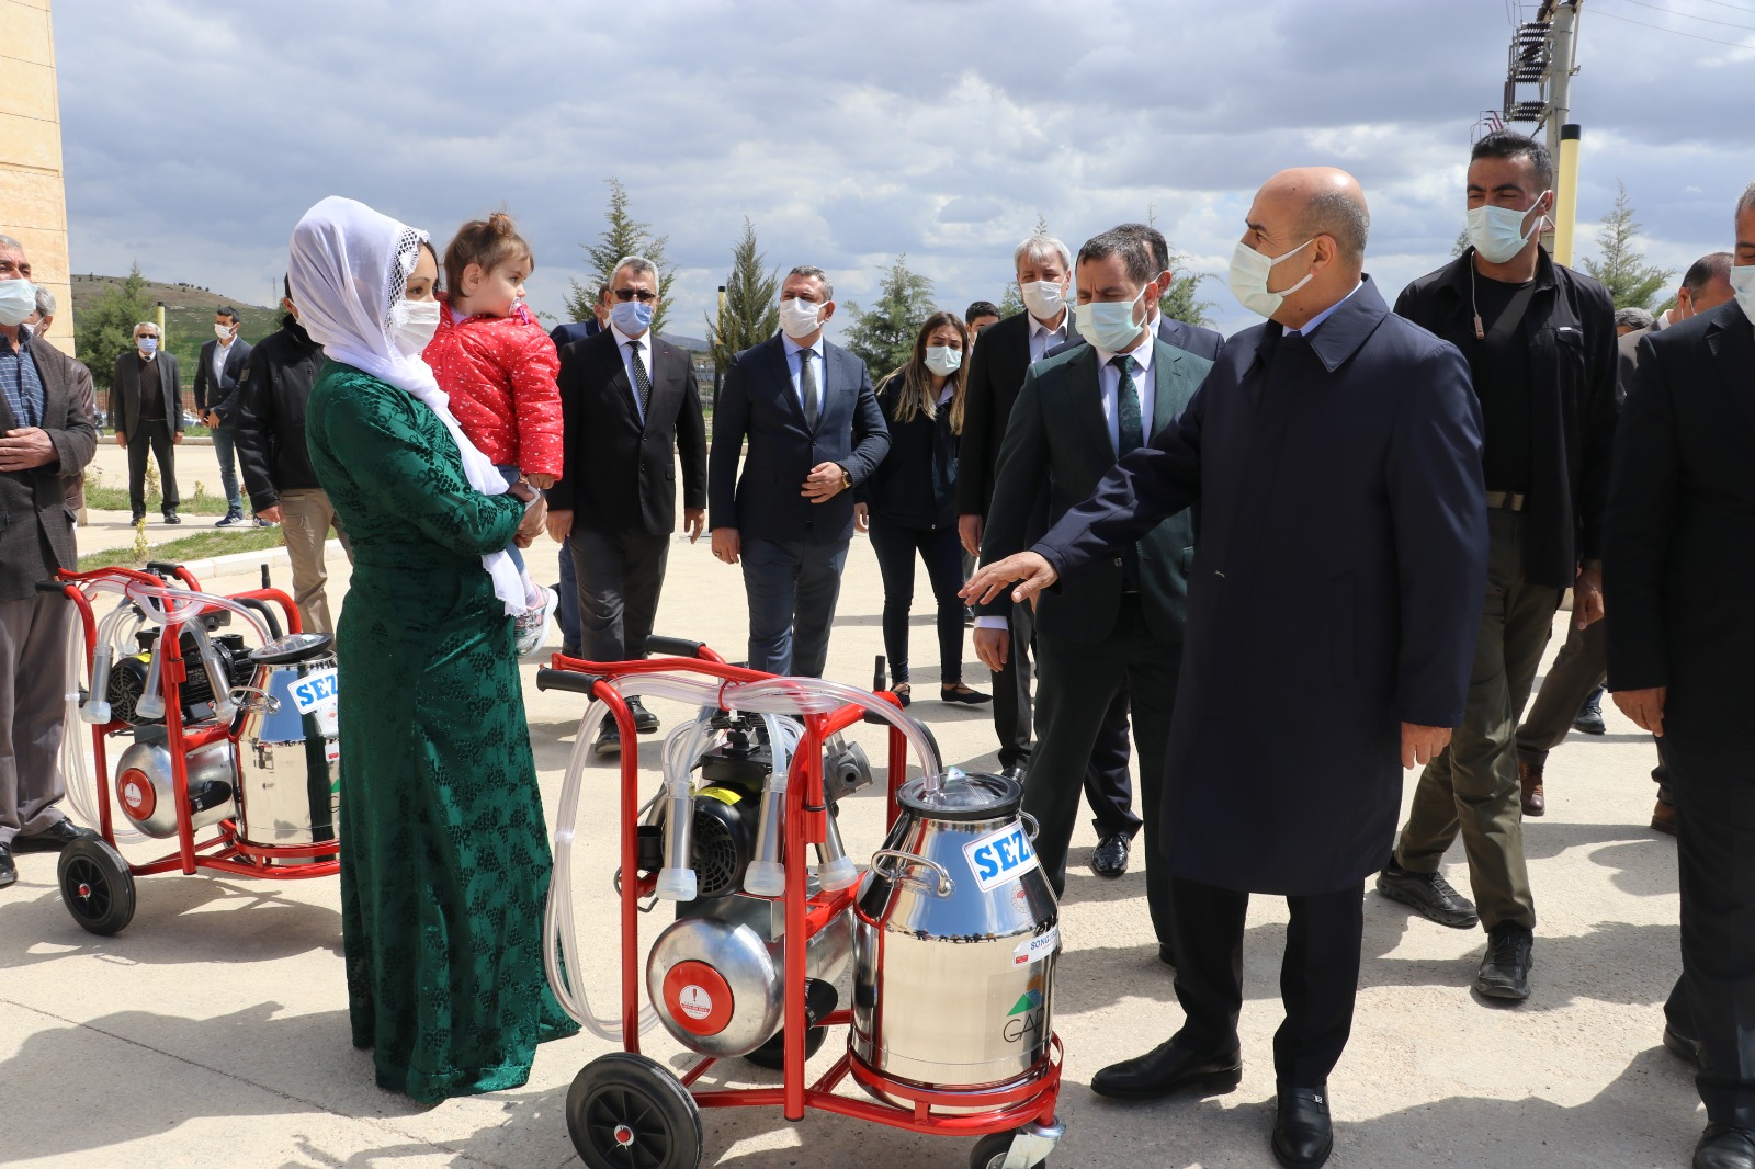
<path fill-rule="evenodd" d="M 1172 878 L 1171 900 L 1176 906 L 1176 997 L 1186 1015 L 1176 1043 L 1211 1055 L 1236 1051 L 1250 895 Z M 1286 1022 L 1274 1032 L 1274 1078 L 1281 1088 L 1322 1087 L 1341 1060 L 1353 1030 L 1364 900 L 1357 885 L 1286 897 L 1292 923 L 1279 960 Z"/>

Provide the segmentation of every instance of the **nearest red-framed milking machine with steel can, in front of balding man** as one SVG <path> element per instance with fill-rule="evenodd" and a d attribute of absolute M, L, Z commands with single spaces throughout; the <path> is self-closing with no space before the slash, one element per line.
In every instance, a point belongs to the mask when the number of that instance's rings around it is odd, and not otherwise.
<path fill-rule="evenodd" d="M 677 656 L 556 655 L 537 672 L 542 690 L 591 699 L 555 821 L 544 932 L 562 1006 L 623 1048 L 586 1064 L 567 1095 L 584 1164 L 697 1169 L 702 1108 L 777 1106 L 788 1120 L 814 1108 L 981 1137 L 976 1169 L 1042 1165 L 1062 1134 L 1051 1029 L 1060 930 L 1034 823 L 1018 811 L 1021 786 L 941 772 L 932 735 L 892 695 L 727 665 L 698 642 L 655 637 L 648 649 Z M 625 702 L 637 695 L 698 709 L 667 737 L 663 786 L 644 806 Z M 625 744 L 612 1018 L 593 1016 L 577 986 L 570 900 L 581 776 L 602 718 L 616 720 Z M 890 728 L 890 832 L 863 874 L 837 827 L 837 802 L 870 781 L 863 753 L 841 739 L 860 721 Z M 904 783 L 911 748 L 925 774 Z M 672 900 L 676 918 L 642 971 L 639 922 L 656 900 Z M 849 962 L 851 1004 L 841 1006 Z M 641 1053 L 641 1034 L 660 1023 L 700 1055 L 681 1074 Z M 806 1060 L 842 1025 L 846 1048 L 807 1079 Z M 695 1087 L 735 1057 L 777 1067 L 781 1087 Z M 837 1092 L 848 1079 L 872 1099 Z"/>

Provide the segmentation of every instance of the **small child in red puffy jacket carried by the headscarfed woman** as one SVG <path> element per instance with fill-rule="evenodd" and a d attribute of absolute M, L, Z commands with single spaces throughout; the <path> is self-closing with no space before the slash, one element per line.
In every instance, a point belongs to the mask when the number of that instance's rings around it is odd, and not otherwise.
<path fill-rule="evenodd" d="M 451 397 L 463 434 L 505 481 L 523 477 L 548 490 L 562 474 L 560 358 L 523 304 L 534 269 L 530 244 L 511 216 L 493 212 L 458 228 L 444 249 L 449 295 L 441 293 L 439 332 L 423 356 Z M 530 609 L 518 618 L 518 656 L 525 656 L 546 641 L 558 597 L 532 583 L 516 544 L 505 551 L 530 597 Z"/>

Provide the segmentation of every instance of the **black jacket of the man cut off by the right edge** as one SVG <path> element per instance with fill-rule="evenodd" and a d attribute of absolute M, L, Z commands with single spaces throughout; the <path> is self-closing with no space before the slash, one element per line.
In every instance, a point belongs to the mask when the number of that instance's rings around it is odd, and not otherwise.
<path fill-rule="evenodd" d="M 1639 341 L 1602 583 L 1609 688 L 1669 686 L 1664 734 L 1755 742 L 1755 326 L 1736 300 Z"/>

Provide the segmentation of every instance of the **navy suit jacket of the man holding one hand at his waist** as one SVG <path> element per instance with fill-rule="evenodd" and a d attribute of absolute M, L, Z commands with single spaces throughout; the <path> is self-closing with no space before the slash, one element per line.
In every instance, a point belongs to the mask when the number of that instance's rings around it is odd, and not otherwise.
<path fill-rule="evenodd" d="M 890 451 L 890 432 L 865 362 L 825 341 L 823 365 L 823 407 L 811 428 L 792 388 L 783 333 L 732 358 L 713 412 L 707 521 L 714 528 L 737 528 L 746 541 L 853 537 L 853 491 L 813 504 L 800 495 L 804 479 L 818 463 L 841 463 L 855 486 L 863 483 Z M 744 439 L 749 453 L 739 474 Z"/>

